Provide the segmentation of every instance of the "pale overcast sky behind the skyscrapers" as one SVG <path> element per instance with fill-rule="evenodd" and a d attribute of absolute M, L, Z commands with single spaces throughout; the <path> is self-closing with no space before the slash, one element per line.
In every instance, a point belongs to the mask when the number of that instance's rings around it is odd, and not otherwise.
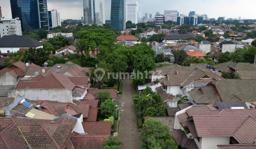
<path fill-rule="evenodd" d="M 209 18 L 256 18 L 256 0 L 126 0 L 142 2 L 143 16 L 145 12 L 164 13 L 164 10 L 178 10 L 188 15 L 189 11 L 207 14 Z M 81 19 L 83 16 L 83 0 L 47 0 L 48 10 L 57 9 L 62 19 Z M 2 15 L 11 18 L 10 0 L 0 0 Z M 105 0 L 106 20 L 110 20 L 111 0 Z"/>

